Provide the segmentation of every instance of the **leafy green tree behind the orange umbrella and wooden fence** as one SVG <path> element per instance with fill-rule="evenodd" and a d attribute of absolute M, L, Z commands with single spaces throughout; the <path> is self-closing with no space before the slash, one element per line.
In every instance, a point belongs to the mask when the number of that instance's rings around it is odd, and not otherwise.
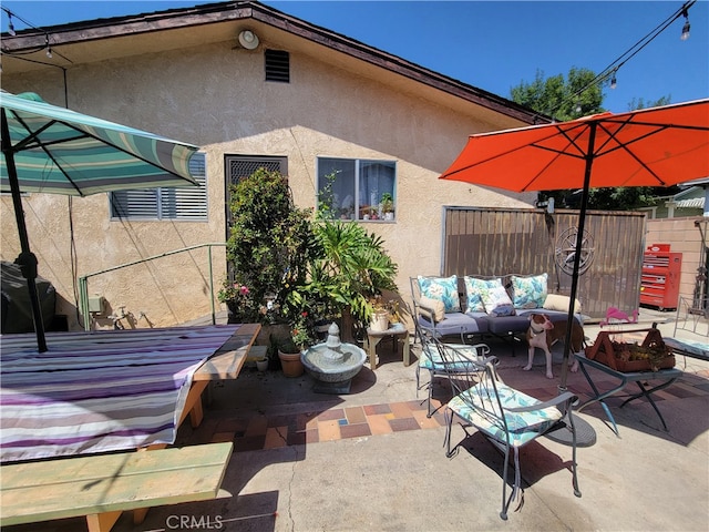
<path fill-rule="evenodd" d="M 566 80 L 562 74 L 544 79 L 544 73 L 536 72 L 532 83 L 521 82 L 510 90 L 514 102 L 526 105 L 534 111 L 553 116 L 558 121 L 567 121 L 604 112 L 602 91 L 605 80 L 594 82 L 596 74 L 588 69 L 572 68 Z M 670 96 L 661 96 L 647 103 L 633 99 L 628 111 L 667 105 Z M 613 187 L 592 188 L 588 192 L 588 208 L 603 211 L 633 211 L 656 205 L 660 196 L 676 193 L 678 187 Z M 537 195 L 538 202 L 553 197 L 559 208 L 577 208 L 580 202 L 579 191 L 544 191 Z"/>

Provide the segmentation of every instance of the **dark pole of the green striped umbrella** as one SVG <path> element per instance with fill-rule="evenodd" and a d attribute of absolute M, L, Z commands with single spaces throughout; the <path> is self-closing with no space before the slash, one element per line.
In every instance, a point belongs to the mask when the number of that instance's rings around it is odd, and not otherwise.
<path fill-rule="evenodd" d="M 8 181 L 10 182 L 10 191 L 12 192 L 12 205 L 14 206 L 14 217 L 17 219 L 18 233 L 20 234 L 20 248 L 22 252 L 14 260 L 20 265 L 22 276 L 27 279 L 27 286 L 30 291 L 30 305 L 32 307 L 32 319 L 34 321 L 34 331 L 37 332 L 37 348 L 40 352 L 47 351 L 47 340 L 44 338 L 44 323 L 42 320 L 42 309 L 40 307 L 40 298 L 37 295 L 37 257 L 30 250 L 30 241 L 27 235 L 27 226 L 24 225 L 24 211 L 22 209 L 22 196 L 20 194 L 20 184 L 18 182 L 18 171 L 14 166 L 14 152 L 10 142 L 10 129 L 8 127 L 8 117 L 2 109 L 2 154 L 8 167 Z"/>

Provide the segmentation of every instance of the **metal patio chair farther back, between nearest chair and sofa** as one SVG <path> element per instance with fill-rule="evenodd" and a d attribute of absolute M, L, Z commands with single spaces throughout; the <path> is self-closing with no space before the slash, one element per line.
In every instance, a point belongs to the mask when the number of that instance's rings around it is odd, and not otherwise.
<path fill-rule="evenodd" d="M 417 397 L 419 397 L 419 390 L 425 387 L 428 390 L 428 398 L 425 399 L 428 401 L 427 417 L 430 418 L 441 408 L 433 409 L 431 403 L 434 379 L 449 379 L 450 375 L 481 371 L 485 361 L 491 360 L 487 358 L 490 347 L 485 344 L 441 344 L 440 340 L 433 339 L 434 337 L 430 331 L 420 329 L 418 324 L 415 327 L 417 336 L 421 340 L 421 356 L 417 365 Z M 450 358 L 452 362 L 448 368 L 439 352 L 439 345 L 442 346 L 442 349 L 449 347 L 451 349 Z M 495 362 L 497 361 L 495 357 L 493 359 Z M 471 364 L 471 361 L 476 364 Z M 421 370 L 429 372 L 429 380 L 423 385 L 421 383 Z M 451 389 L 454 391 L 453 388 Z"/>

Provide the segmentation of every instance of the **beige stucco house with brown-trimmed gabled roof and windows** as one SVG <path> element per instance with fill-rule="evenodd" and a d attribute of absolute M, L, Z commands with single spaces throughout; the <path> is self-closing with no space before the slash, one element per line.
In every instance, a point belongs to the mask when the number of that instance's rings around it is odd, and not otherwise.
<path fill-rule="evenodd" d="M 404 299 L 409 276 L 440 270 L 444 205 L 535 200 L 438 176 L 470 134 L 544 116 L 258 2 L 28 29 L 2 34 L 1 49 L 3 90 L 37 92 L 203 154 L 198 191 L 23 197 L 40 275 L 72 328 L 81 324 L 78 277 L 127 263 L 89 278 L 90 296 L 105 299 L 94 327 L 121 313 L 134 327 L 208 315 L 210 279 L 216 293 L 226 273 L 228 185 L 260 165 L 286 174 L 302 207 L 316 206 L 325 176 L 338 171 L 341 216 L 381 235 Z M 393 196 L 392 219 L 377 207 L 383 193 Z M 0 255 L 13 260 L 9 195 L 0 214 Z"/>

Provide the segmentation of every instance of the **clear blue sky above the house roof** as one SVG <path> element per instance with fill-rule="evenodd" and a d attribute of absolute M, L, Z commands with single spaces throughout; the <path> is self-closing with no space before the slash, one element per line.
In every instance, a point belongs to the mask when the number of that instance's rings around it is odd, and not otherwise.
<path fill-rule="evenodd" d="M 2 7 L 35 27 L 210 3 L 201 1 L 11 1 Z M 571 68 L 598 73 L 679 10 L 682 1 L 264 1 L 479 89 L 510 98 L 510 89 Z M 709 96 L 709 1 L 618 70 L 604 106 L 627 111 L 634 99 L 672 103 Z M 8 17 L 2 13 L 2 31 Z M 14 28 L 25 25 L 13 20 Z"/>

